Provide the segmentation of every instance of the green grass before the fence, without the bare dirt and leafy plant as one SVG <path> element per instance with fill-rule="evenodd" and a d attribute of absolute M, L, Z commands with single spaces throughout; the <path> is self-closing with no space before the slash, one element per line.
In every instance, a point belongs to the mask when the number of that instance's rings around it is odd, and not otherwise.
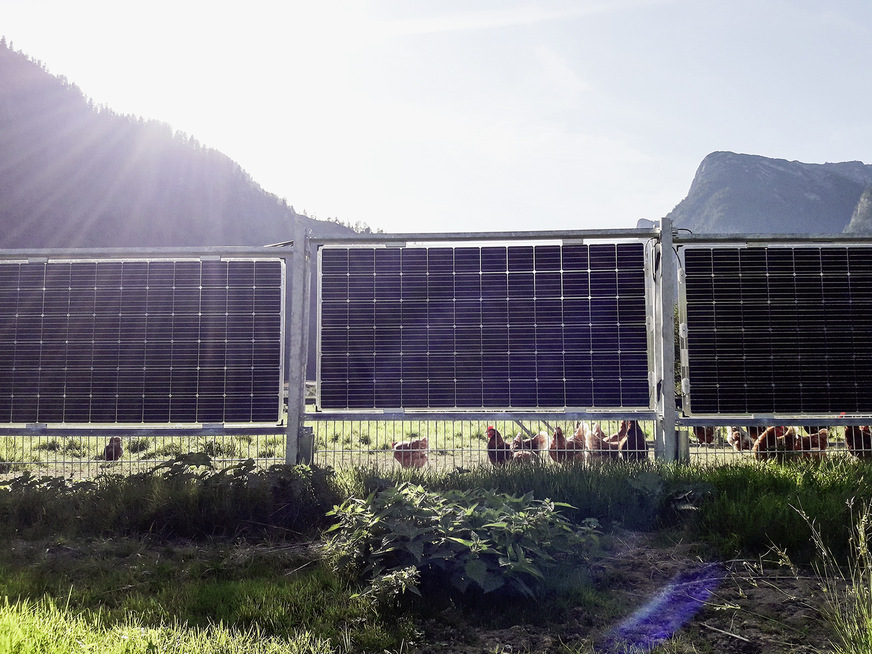
<path fill-rule="evenodd" d="M 842 620 L 853 625 L 851 638 L 872 639 L 872 605 L 859 594 L 872 587 L 872 564 L 858 554 L 868 553 L 868 540 L 860 549 L 859 537 L 851 540 L 859 523 L 849 504 L 872 500 L 872 467 L 847 457 L 452 471 L 210 466 L 209 457 L 187 455 L 144 473 L 80 481 L 24 475 L 0 484 L 0 654 L 84 651 L 77 642 L 110 653 L 402 651 L 416 638 L 417 617 L 437 617 L 435 604 L 377 611 L 357 595 L 361 588 L 299 544 L 319 539 L 325 514 L 342 499 L 402 481 L 436 492 L 531 492 L 572 505 L 565 513 L 574 522 L 597 518 L 606 532 L 666 529 L 699 543 L 706 557 L 776 548 L 803 563 L 825 550 L 835 575 L 853 555 L 864 572 L 855 578 L 847 568 L 853 595 L 839 596 L 837 606 L 850 608 Z M 578 607 L 615 617 L 625 610 L 571 559 L 544 588 L 535 612 L 514 600 L 457 611 L 470 628 L 508 626 L 507 616 L 520 614 L 559 620 Z"/>

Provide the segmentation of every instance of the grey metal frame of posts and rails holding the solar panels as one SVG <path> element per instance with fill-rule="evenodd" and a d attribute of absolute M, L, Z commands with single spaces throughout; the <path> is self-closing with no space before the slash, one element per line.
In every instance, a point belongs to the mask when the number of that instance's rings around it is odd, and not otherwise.
<path fill-rule="evenodd" d="M 661 221 L 658 227 L 642 229 L 608 229 L 608 230 L 570 230 L 570 231 L 518 231 L 518 232 L 467 232 L 467 233 L 407 233 L 407 234 L 375 234 L 363 237 L 361 235 L 344 237 L 313 238 L 303 228 L 296 226 L 294 240 L 268 247 L 200 247 L 200 248 L 59 248 L 59 249 L 27 249 L 0 250 L 2 260 L 43 261 L 49 259 L 125 259 L 125 258 L 280 258 L 285 261 L 288 274 L 285 289 L 285 324 L 284 324 L 284 369 L 283 384 L 287 385 L 288 415 L 285 424 L 269 425 L 161 425 L 155 428 L 143 425 L 42 425 L 32 424 L 22 427 L 0 427 L 0 435 L 23 434 L 41 435 L 232 435 L 232 434 L 264 434 L 285 432 L 286 462 L 295 463 L 304 456 L 298 449 L 298 440 L 306 431 L 302 425 L 307 422 L 330 420 L 465 420 L 473 415 L 485 415 L 497 419 L 639 419 L 651 420 L 656 424 L 655 453 L 659 459 L 670 461 L 687 457 L 686 448 L 680 448 L 684 429 L 690 425 L 763 425 L 789 424 L 815 425 L 825 421 L 828 424 L 858 425 L 868 424 L 869 416 L 809 416 L 809 415 L 711 415 L 683 416 L 676 410 L 676 395 L 674 392 L 672 371 L 676 351 L 673 347 L 673 307 L 676 296 L 679 308 L 682 306 L 684 292 L 681 280 L 681 266 L 678 257 L 673 252 L 679 252 L 682 247 L 703 245 L 742 245 L 742 244 L 786 244 L 786 245 L 823 245 L 862 243 L 872 244 L 872 237 L 864 235 L 797 235 L 797 234 L 689 234 L 682 230 L 674 230 L 668 219 Z M 416 244 L 416 243 L 455 243 L 455 242 L 493 242 L 493 241 L 564 241 L 584 242 L 586 240 L 632 239 L 643 240 L 650 244 L 655 263 L 647 275 L 651 285 L 653 306 L 649 306 L 650 342 L 649 370 L 651 370 L 651 408 L 645 411 L 586 411 L 569 408 L 560 412 L 455 412 L 455 411 L 415 411 L 394 413 L 357 412 L 307 413 L 304 405 L 306 345 L 308 338 L 308 298 L 310 293 L 309 266 L 307 261 L 314 256 L 316 249 L 323 244 Z M 677 284 L 677 293 L 676 293 Z M 681 317 L 678 328 L 681 328 Z M 685 323 L 686 324 L 686 323 Z"/>

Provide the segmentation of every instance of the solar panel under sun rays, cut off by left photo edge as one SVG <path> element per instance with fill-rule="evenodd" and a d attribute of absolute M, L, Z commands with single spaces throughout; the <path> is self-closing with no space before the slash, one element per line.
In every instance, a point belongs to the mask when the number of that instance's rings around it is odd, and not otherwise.
<path fill-rule="evenodd" d="M 280 260 L 0 263 L 0 422 L 276 421 Z"/>

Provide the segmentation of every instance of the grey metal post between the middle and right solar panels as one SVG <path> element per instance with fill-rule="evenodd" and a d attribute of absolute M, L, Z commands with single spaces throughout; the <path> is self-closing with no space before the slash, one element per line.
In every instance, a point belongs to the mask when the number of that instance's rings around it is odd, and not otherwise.
<path fill-rule="evenodd" d="M 656 276 L 655 330 L 659 339 L 655 351 L 659 354 L 659 379 L 657 389 L 657 424 L 655 451 L 663 461 L 679 458 L 678 433 L 675 430 L 675 298 L 677 266 L 672 245 L 672 220 L 663 218 L 660 223 L 660 271 Z"/>

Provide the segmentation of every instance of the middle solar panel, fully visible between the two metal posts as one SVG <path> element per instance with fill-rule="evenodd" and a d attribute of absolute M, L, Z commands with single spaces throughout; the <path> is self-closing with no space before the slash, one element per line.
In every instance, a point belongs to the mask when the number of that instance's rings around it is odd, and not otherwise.
<path fill-rule="evenodd" d="M 640 243 L 325 247 L 326 409 L 648 407 Z"/>

